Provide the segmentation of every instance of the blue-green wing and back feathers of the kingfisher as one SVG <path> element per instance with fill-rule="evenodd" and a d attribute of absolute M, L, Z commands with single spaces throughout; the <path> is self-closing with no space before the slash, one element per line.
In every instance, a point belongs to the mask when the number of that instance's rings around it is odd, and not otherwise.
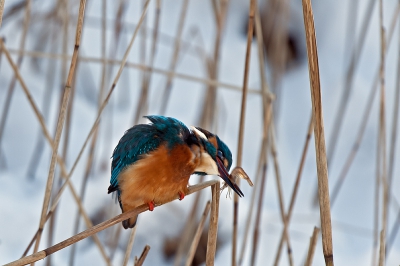
<path fill-rule="evenodd" d="M 146 116 L 152 124 L 141 124 L 128 129 L 115 147 L 111 163 L 108 193 L 118 190 L 118 175 L 127 166 L 156 150 L 163 143 L 169 148 L 184 143 L 189 129 L 180 121 L 164 116 Z"/>

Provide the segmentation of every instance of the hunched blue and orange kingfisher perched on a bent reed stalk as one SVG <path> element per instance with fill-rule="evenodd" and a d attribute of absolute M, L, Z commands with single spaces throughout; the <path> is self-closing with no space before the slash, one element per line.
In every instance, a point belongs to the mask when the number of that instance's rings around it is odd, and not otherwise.
<path fill-rule="evenodd" d="M 150 124 L 128 129 L 114 149 L 108 193 L 116 191 L 122 212 L 148 204 L 153 211 L 188 193 L 192 174 L 217 175 L 240 197 L 243 192 L 230 179 L 232 153 L 217 135 L 188 128 L 181 121 L 159 115 L 145 118 Z M 122 222 L 125 229 L 136 225 L 137 216 Z"/>

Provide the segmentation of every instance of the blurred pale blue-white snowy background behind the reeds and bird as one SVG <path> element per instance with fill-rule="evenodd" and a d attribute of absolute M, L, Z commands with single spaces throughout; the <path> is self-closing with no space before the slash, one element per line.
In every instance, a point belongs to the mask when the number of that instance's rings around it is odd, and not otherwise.
<path fill-rule="evenodd" d="M 5 1 L 5 12 L 0 36 L 5 38 L 6 47 L 11 51 L 19 49 L 23 31 L 24 11 L 10 14 L 11 7 L 24 1 Z M 52 10 L 57 1 L 33 1 L 32 17 L 27 34 L 25 50 L 40 51 L 43 53 L 62 53 L 62 34 L 52 37 L 49 33 L 52 27 L 50 19 L 46 20 L 44 14 Z M 69 1 L 71 22 L 69 25 L 68 54 L 73 51 L 78 3 Z M 350 62 L 351 51 L 346 42 L 348 30 L 348 13 L 354 13 L 356 26 L 354 33 L 350 34 L 350 42 L 359 39 L 362 20 L 368 1 L 359 1 L 357 12 L 349 10 L 348 1 L 314 1 L 314 15 L 319 52 L 319 66 L 321 76 L 322 100 L 324 108 L 324 123 L 327 142 L 330 140 L 333 121 L 338 111 L 340 97 L 344 89 L 346 69 Z M 377 2 L 377 1 L 375 1 Z M 179 21 L 179 13 L 183 1 L 163 1 L 160 20 L 160 40 L 157 47 L 154 66 L 157 69 L 168 71 L 173 55 L 174 36 Z M 117 1 L 107 3 L 107 55 L 113 54 L 113 27 L 117 12 Z M 384 1 L 384 25 L 389 31 L 393 14 L 397 8 L 397 1 Z M 127 44 L 134 32 L 135 25 L 142 13 L 141 1 L 127 1 L 126 10 L 122 18 L 123 33 L 118 47 L 115 47 L 115 58 L 120 60 Z M 79 50 L 81 57 L 101 58 L 101 1 L 88 1 L 85 14 L 85 25 L 82 43 Z M 187 18 L 183 28 L 182 39 L 191 43 L 193 47 L 202 47 L 208 56 L 212 56 L 215 38 L 215 19 L 211 1 L 193 0 L 189 2 Z M 223 29 L 221 53 L 219 62 L 218 81 L 241 87 L 246 50 L 246 20 L 248 1 L 233 0 L 229 3 L 227 19 Z M 282 185 L 285 207 L 287 208 L 294 180 L 296 177 L 301 152 L 307 132 L 311 101 L 309 89 L 309 75 L 305 53 L 304 25 L 302 18 L 301 1 L 291 1 L 290 27 L 297 33 L 301 50 L 299 63 L 289 72 L 285 73 L 280 85 L 280 107 L 278 121 L 276 121 L 277 149 L 281 167 Z M 35 15 L 34 15 L 35 14 Z M 155 1 L 152 1 L 147 14 L 147 26 L 153 27 L 155 16 Z M 358 128 L 367 103 L 367 98 L 372 88 L 374 78 L 379 69 L 380 37 L 378 3 L 370 19 L 370 27 L 366 41 L 361 51 L 360 62 L 357 65 L 353 91 L 350 95 L 349 106 L 344 119 L 341 135 L 336 149 L 333 163 L 329 165 L 330 188 L 336 184 L 340 171 L 350 152 L 358 134 Z M 396 23 L 398 24 L 398 23 Z M 61 31 L 61 26 L 59 31 Z M 193 32 L 196 32 L 193 37 Z M 390 132 L 392 128 L 392 110 L 394 93 L 396 89 L 396 72 L 399 52 L 399 29 L 395 27 L 392 44 L 389 46 L 386 57 L 386 125 L 390 145 Z M 201 37 L 200 37 L 201 36 Z M 128 62 L 140 63 L 141 36 L 135 41 L 129 55 Z M 51 49 L 55 43 L 55 51 Z M 151 51 L 151 37 L 148 35 L 147 61 Z M 181 51 L 176 68 L 179 74 L 193 77 L 208 78 L 204 60 L 196 49 L 190 47 Z M 347 47 L 347 48 L 346 48 Z M 14 62 L 17 53 L 12 53 Z M 49 68 L 49 62 L 55 62 L 55 67 Z M 2 55 L 0 65 L 0 106 L 3 111 L 9 84 L 13 78 L 13 70 L 5 56 Z M 39 58 L 33 60 L 29 55 L 24 56 L 20 67 L 33 99 L 43 111 L 46 101 L 50 102 L 49 111 L 46 113 L 47 127 L 54 135 L 55 123 L 58 116 L 61 88 L 65 82 L 61 75 L 62 60 L 59 58 L 48 60 Z M 67 61 L 69 66 L 69 59 Z M 111 86 L 119 64 L 110 69 L 110 77 L 106 83 L 106 91 Z M 49 69 L 54 76 L 54 82 L 48 82 Z M 269 66 L 267 65 L 267 69 Z M 268 70 L 269 71 L 269 70 Z M 270 72 L 268 72 L 269 75 Z M 101 81 L 101 64 L 98 62 L 85 62 L 81 60 L 76 72 L 77 81 L 71 116 L 69 145 L 67 147 L 67 169 L 72 167 L 97 114 L 97 97 Z M 142 72 L 137 68 L 125 68 L 118 82 L 111 100 L 104 111 L 95 149 L 94 165 L 89 177 L 84 207 L 89 213 L 93 223 L 99 223 L 120 213 L 119 207 L 114 203 L 111 195 L 107 195 L 110 177 L 110 156 L 113 148 L 124 131 L 133 125 L 136 106 L 140 95 Z M 270 81 L 267 75 L 267 80 Z M 163 99 L 162 89 L 167 76 L 162 73 L 152 74 L 149 94 L 149 114 L 158 114 Z M 50 90 L 46 90 L 50 86 Z M 258 71 L 257 44 L 253 41 L 250 65 L 249 87 L 260 90 L 260 76 Z M 51 95 L 49 96 L 49 91 Z M 176 77 L 173 80 L 171 99 L 165 115 L 175 117 L 186 125 L 197 125 L 203 109 L 203 97 L 206 85 L 202 82 Z M 49 99 L 46 99 L 49 97 Z M 230 147 L 235 165 L 237 153 L 237 136 L 240 118 L 241 93 L 220 86 L 217 96 L 217 126 L 210 129 L 224 140 Z M 333 225 L 333 251 L 337 265 L 371 265 L 373 251 L 373 221 L 374 221 L 374 193 L 376 180 L 376 146 L 379 126 L 379 94 L 376 93 L 371 110 L 366 132 L 360 150 L 346 177 L 346 181 L 332 206 Z M 44 111 L 43 111 L 44 112 Z M 2 114 L 1 114 L 2 115 Z M 142 119 L 140 122 L 146 122 Z M 0 157 L 0 263 L 8 263 L 21 257 L 33 234 L 38 228 L 42 209 L 44 189 L 51 158 L 51 148 L 44 142 L 41 159 L 36 164 L 34 175 L 28 171 L 37 141 L 41 136 L 41 129 L 37 118 L 32 112 L 27 98 L 17 82 L 11 106 L 6 121 L 3 137 L 1 139 Z M 262 102 L 260 94 L 250 92 L 247 98 L 245 141 L 243 151 L 243 168 L 255 180 L 256 168 L 262 138 Z M 397 142 L 396 149 L 399 150 Z M 60 146 L 59 152 L 65 147 Z M 72 176 L 72 182 L 77 191 L 80 191 L 82 178 L 85 172 L 88 147 Z M 269 156 L 271 158 L 271 156 Z M 398 159 L 395 159 L 397 162 Z M 275 258 L 279 237 L 282 230 L 280 219 L 277 189 L 272 167 L 269 162 L 266 190 L 262 208 L 260 226 L 260 243 L 257 255 L 257 265 L 271 265 Z M 394 168 L 392 193 L 393 198 L 400 200 L 398 188 L 400 187 L 400 168 Z M 56 176 L 59 173 L 56 173 Z M 194 177 L 191 183 L 196 183 Z M 300 183 L 298 198 L 290 224 L 290 236 L 295 265 L 304 262 L 308 250 L 309 238 L 314 226 L 319 226 L 319 208 L 313 206 L 313 197 L 316 191 L 316 167 L 314 139 L 305 163 L 303 177 Z M 239 212 L 239 248 L 241 248 L 244 225 L 250 206 L 250 188 L 242 182 L 241 188 L 245 197 L 240 199 Z M 193 196 L 188 196 L 182 202 L 173 202 L 156 208 L 154 212 L 140 215 L 138 231 L 132 251 L 133 256 L 140 255 L 145 244 L 151 246 L 145 265 L 171 265 L 173 260 L 166 260 L 163 256 L 163 243 L 167 237 L 176 237 L 186 221 L 189 208 L 192 206 Z M 210 198 L 209 189 L 204 193 L 200 209 Z M 389 206 L 389 232 L 392 233 L 395 219 L 399 211 L 396 200 Z M 232 232 L 232 200 L 221 195 L 219 239 L 223 244 L 219 247 L 216 265 L 229 265 L 231 263 L 231 232 Z M 55 223 L 53 243 L 58 243 L 73 235 L 77 207 L 68 191 L 64 192 L 58 207 Z M 100 218 L 99 218 L 100 217 Z M 380 214 L 379 214 L 380 217 Z M 379 218 L 380 219 L 380 218 Z M 117 227 L 120 225 L 116 225 Z M 48 230 L 45 227 L 41 240 L 40 250 L 48 246 Z M 80 230 L 86 229 L 81 222 Z M 115 228 L 114 228 L 115 229 Z M 111 233 L 110 233 L 111 232 Z M 105 231 L 99 234 L 100 239 L 109 250 L 112 232 Z M 252 231 L 251 231 L 252 232 Z M 123 230 L 118 242 L 116 252 L 112 254 L 113 264 L 120 265 L 125 254 L 125 247 L 129 231 Z M 243 265 L 250 264 L 251 242 L 248 242 L 247 253 Z M 285 249 L 284 249 L 285 250 Z M 71 247 L 65 248 L 52 256 L 53 265 L 67 265 Z M 38 265 L 44 265 L 46 260 Z M 387 265 L 398 265 L 400 262 L 400 239 L 397 237 L 390 251 L 387 253 Z M 130 262 L 131 263 L 131 262 Z M 86 239 L 77 244 L 76 265 L 102 265 L 104 261 L 97 247 L 91 239 Z M 282 252 L 281 265 L 288 265 L 285 251 Z M 321 239 L 316 248 L 314 265 L 323 265 Z"/>

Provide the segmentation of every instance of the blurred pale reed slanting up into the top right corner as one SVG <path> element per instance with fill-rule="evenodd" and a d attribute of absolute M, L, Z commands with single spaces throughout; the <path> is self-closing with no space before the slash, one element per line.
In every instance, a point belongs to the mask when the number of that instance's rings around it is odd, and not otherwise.
<path fill-rule="evenodd" d="M 389 45 L 390 45 L 392 37 L 393 37 L 396 21 L 397 21 L 397 18 L 399 17 L 399 14 L 400 14 L 400 3 L 397 4 L 397 7 L 393 12 L 393 16 L 392 16 L 391 23 L 390 23 L 390 28 L 389 28 L 388 38 L 387 38 L 387 40 L 385 42 L 386 43 L 385 51 L 387 51 L 389 49 Z M 336 201 L 337 195 L 339 194 L 341 186 L 344 183 L 344 180 L 346 178 L 347 172 L 349 171 L 350 166 L 351 166 L 351 164 L 352 164 L 352 162 L 353 162 L 353 160 L 354 160 L 354 158 L 355 158 L 355 156 L 356 156 L 356 154 L 357 154 L 357 152 L 359 150 L 359 147 L 361 145 L 361 141 L 362 141 L 362 138 L 364 136 L 364 132 L 365 132 L 365 129 L 366 129 L 366 126 L 367 126 L 369 115 L 370 115 L 371 110 L 372 110 L 372 104 L 373 104 L 373 101 L 375 99 L 375 93 L 376 93 L 376 91 L 378 89 L 379 69 L 380 69 L 380 66 L 378 66 L 377 74 L 375 75 L 375 79 L 374 79 L 373 85 L 371 87 L 370 94 L 368 96 L 368 101 L 367 101 L 367 104 L 365 106 L 363 119 L 362 119 L 362 122 L 360 124 L 359 130 L 358 130 L 358 133 L 357 133 L 357 138 L 356 138 L 356 140 L 355 140 L 355 142 L 354 142 L 354 144 L 352 146 L 352 149 L 349 152 L 349 155 L 348 155 L 348 157 L 346 159 L 346 162 L 345 162 L 345 164 L 344 164 L 344 166 L 343 166 L 343 168 L 342 168 L 342 170 L 340 172 L 339 178 L 337 179 L 338 181 L 336 181 L 335 185 L 333 186 L 333 190 L 332 190 L 332 194 L 331 194 L 331 205 L 332 206 L 334 205 L 334 203 Z"/>

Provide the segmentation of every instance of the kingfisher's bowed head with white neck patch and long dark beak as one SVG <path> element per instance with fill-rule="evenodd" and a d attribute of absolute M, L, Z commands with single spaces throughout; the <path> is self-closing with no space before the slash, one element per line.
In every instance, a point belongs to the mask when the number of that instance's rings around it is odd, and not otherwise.
<path fill-rule="evenodd" d="M 231 180 L 229 169 L 232 166 L 232 153 L 228 146 L 217 136 L 211 132 L 200 127 L 191 127 L 193 134 L 199 140 L 201 149 L 209 156 L 202 156 L 205 158 L 211 157 L 212 160 L 207 160 L 212 169 L 216 171 L 205 171 L 207 174 L 215 174 L 220 176 L 240 197 L 244 196 L 240 188 Z"/>

